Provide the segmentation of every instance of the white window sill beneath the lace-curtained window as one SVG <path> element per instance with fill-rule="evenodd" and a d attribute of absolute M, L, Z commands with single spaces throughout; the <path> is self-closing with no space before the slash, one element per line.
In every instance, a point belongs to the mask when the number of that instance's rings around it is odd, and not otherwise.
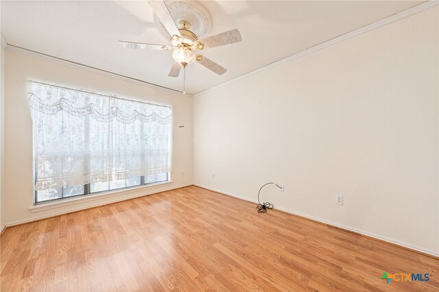
<path fill-rule="evenodd" d="M 107 198 L 107 197 L 115 197 L 117 195 L 121 195 L 122 193 L 128 194 L 128 193 L 135 193 L 135 192 L 138 192 L 140 190 L 149 190 L 151 188 L 158 188 L 161 186 L 166 186 L 168 184 L 172 184 L 172 181 L 169 180 L 167 182 L 156 182 L 154 184 L 148 184 L 147 186 L 134 186 L 132 188 L 119 189 L 119 190 L 108 191 L 108 192 L 104 192 L 104 193 L 97 193 L 95 195 L 82 195 L 82 196 L 78 196 L 78 197 L 71 197 L 69 199 L 62 199 L 61 201 L 57 201 L 57 202 L 48 202 L 48 203 L 34 205 L 34 206 L 30 207 L 29 210 L 31 212 L 40 212 L 40 211 L 44 211 L 44 210 L 59 208 L 62 206 L 80 204 L 80 203 L 95 201 L 97 199 L 103 199 L 103 198 Z"/>

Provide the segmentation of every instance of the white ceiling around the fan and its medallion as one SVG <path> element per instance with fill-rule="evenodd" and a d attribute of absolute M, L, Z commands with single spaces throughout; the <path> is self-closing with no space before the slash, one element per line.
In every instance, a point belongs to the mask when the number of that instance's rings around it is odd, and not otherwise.
<path fill-rule="evenodd" d="M 187 92 L 198 93 L 423 1 L 199 1 L 210 12 L 208 36 L 238 28 L 242 42 L 203 54 L 228 71 L 192 64 Z M 1 1 L 8 45 L 182 90 L 167 77 L 169 51 L 123 49 L 117 40 L 168 44 L 145 1 Z"/>

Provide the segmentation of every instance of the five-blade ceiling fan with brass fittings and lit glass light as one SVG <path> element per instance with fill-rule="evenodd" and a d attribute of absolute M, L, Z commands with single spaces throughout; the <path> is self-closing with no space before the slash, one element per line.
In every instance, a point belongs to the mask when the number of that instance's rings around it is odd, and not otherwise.
<path fill-rule="evenodd" d="M 180 17 L 180 21 L 178 22 L 178 25 L 176 25 L 165 1 L 147 2 L 150 4 L 152 10 L 154 10 L 157 19 L 161 22 L 167 33 L 171 36 L 171 44 L 155 45 L 143 42 L 127 42 L 119 40 L 119 43 L 122 45 L 122 47 L 125 49 L 157 49 L 163 51 L 173 51 L 172 57 L 174 58 L 175 62 L 171 67 L 171 71 L 169 71 L 169 77 L 178 77 L 182 68 L 185 69 L 186 66 L 195 61 L 199 64 L 202 64 L 207 69 L 217 73 L 218 75 L 226 73 L 227 69 L 213 62 L 209 58 L 206 58 L 205 56 L 195 52 L 202 51 L 203 49 L 209 49 L 211 47 L 218 47 L 232 44 L 234 42 L 240 42 L 241 34 L 239 33 L 238 29 L 231 29 L 227 32 L 215 34 L 214 36 L 208 36 L 199 40 L 198 36 L 191 31 L 191 22 L 185 20 L 185 16 Z M 200 4 L 197 5 L 200 7 Z M 205 10 L 205 8 L 202 9 Z M 206 10 L 204 13 L 208 14 Z"/>

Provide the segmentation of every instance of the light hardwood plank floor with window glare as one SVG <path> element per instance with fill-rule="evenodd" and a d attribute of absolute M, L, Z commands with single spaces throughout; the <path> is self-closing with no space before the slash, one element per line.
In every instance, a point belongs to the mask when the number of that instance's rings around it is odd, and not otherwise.
<path fill-rule="evenodd" d="M 8 228 L 1 291 L 438 291 L 439 260 L 196 186 Z M 388 273 L 429 282 L 386 284 Z"/>

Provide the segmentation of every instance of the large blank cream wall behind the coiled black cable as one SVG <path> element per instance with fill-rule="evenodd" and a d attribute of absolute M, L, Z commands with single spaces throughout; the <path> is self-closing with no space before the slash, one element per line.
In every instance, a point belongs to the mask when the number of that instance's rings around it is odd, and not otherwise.
<path fill-rule="evenodd" d="M 195 95 L 195 184 L 438 254 L 438 50 L 436 7 Z"/>

